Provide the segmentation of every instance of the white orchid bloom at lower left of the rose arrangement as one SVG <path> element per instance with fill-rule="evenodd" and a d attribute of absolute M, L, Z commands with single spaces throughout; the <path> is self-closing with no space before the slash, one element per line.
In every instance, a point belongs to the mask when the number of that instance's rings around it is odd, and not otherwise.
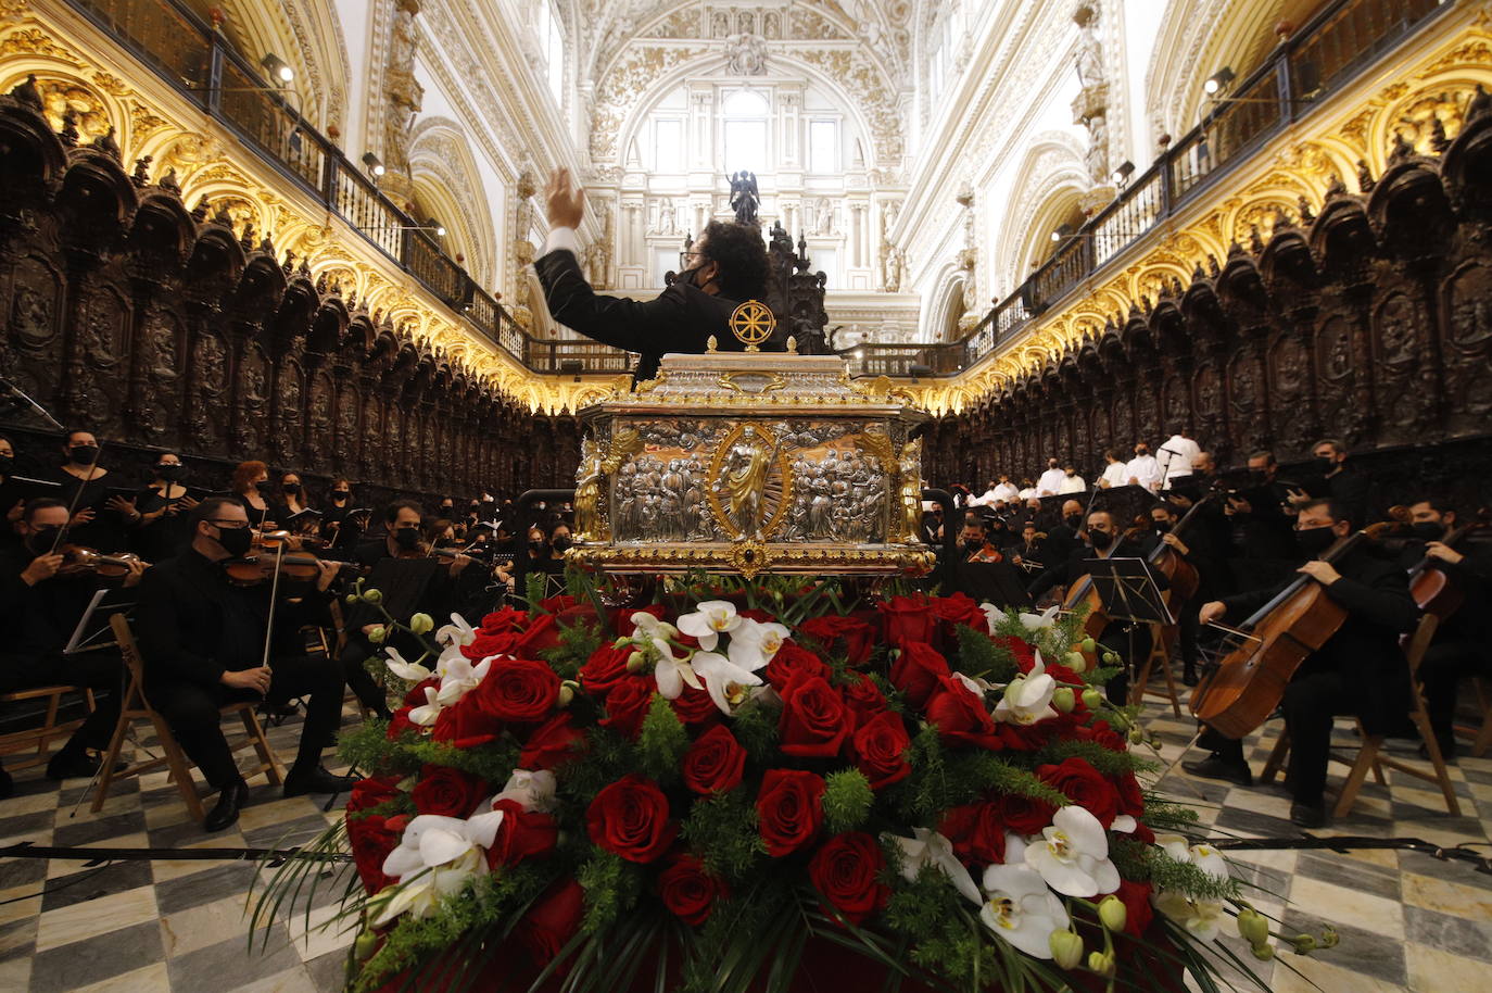
<path fill-rule="evenodd" d="M 470 820 L 421 814 L 404 827 L 398 847 L 383 859 L 383 875 L 398 880 L 373 921 L 382 927 L 400 914 L 428 915 L 445 896 L 460 893 L 467 880 L 486 871 L 482 850 L 491 848 L 503 812 Z"/>

